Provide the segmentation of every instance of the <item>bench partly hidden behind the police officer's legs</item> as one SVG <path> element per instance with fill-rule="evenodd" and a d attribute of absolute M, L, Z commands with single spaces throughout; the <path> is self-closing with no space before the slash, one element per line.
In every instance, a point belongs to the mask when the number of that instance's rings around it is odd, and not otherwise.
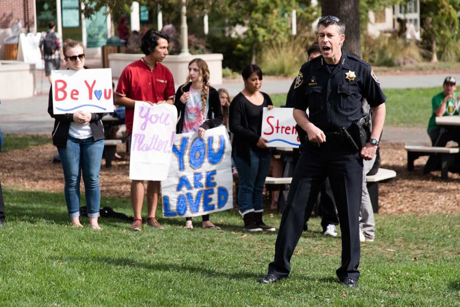
<path fill-rule="evenodd" d="M 388 182 L 389 180 L 396 177 L 396 172 L 393 170 L 387 170 L 380 168 L 375 175 L 366 176 L 367 181 L 367 191 L 369 192 L 369 196 L 371 198 L 372 208 L 374 209 L 374 213 L 379 212 L 379 182 Z M 284 185 L 290 184 L 292 181 L 292 177 L 281 177 L 281 178 L 274 178 L 274 177 L 267 177 L 265 178 L 265 185 Z M 267 187 L 267 190 L 279 190 L 278 188 L 274 187 Z"/>

